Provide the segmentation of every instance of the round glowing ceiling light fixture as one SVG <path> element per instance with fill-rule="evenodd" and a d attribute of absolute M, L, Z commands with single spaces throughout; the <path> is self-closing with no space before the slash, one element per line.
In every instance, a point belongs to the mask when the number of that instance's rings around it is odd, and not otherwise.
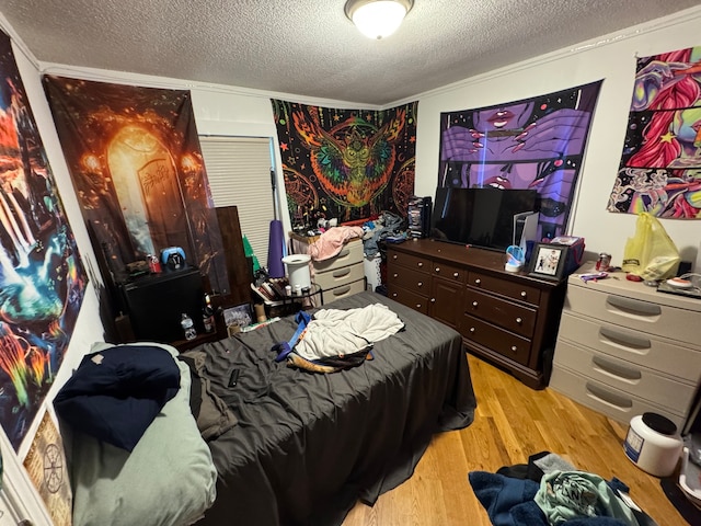
<path fill-rule="evenodd" d="M 384 38 L 394 33 L 414 0 L 348 0 L 346 16 L 368 38 Z"/>

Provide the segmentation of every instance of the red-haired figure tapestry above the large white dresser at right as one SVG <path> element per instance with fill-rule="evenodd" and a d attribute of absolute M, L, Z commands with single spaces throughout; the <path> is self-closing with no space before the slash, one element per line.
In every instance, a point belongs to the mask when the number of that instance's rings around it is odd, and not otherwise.
<path fill-rule="evenodd" d="M 608 210 L 701 217 L 701 47 L 637 59 Z"/>

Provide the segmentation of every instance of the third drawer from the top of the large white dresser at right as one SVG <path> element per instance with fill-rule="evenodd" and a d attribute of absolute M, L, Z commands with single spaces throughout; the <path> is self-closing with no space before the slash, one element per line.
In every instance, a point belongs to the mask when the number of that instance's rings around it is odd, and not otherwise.
<path fill-rule="evenodd" d="M 646 367 L 577 346 L 565 340 L 558 341 L 553 363 L 576 370 L 588 379 L 651 400 L 676 413 L 688 413 L 696 392 L 694 382 L 682 384 Z"/>

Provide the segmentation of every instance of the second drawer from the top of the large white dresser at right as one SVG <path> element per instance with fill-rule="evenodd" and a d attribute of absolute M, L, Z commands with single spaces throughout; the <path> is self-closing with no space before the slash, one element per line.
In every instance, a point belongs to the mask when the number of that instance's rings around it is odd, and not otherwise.
<path fill-rule="evenodd" d="M 701 378 L 701 350 L 681 346 L 667 339 L 631 330 L 627 325 L 585 319 L 565 310 L 560 320 L 559 340 L 576 342 L 593 351 L 683 378 L 693 385 Z"/>

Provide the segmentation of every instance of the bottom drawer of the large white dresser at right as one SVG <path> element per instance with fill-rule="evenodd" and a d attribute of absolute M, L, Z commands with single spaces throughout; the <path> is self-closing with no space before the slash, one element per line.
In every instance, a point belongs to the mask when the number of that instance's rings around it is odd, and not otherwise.
<path fill-rule="evenodd" d="M 686 415 L 632 396 L 596 380 L 587 379 L 572 370 L 555 366 L 550 378 L 550 387 L 572 400 L 599 411 L 621 423 L 630 423 L 637 414 L 653 412 L 671 420 L 680 430 Z"/>

